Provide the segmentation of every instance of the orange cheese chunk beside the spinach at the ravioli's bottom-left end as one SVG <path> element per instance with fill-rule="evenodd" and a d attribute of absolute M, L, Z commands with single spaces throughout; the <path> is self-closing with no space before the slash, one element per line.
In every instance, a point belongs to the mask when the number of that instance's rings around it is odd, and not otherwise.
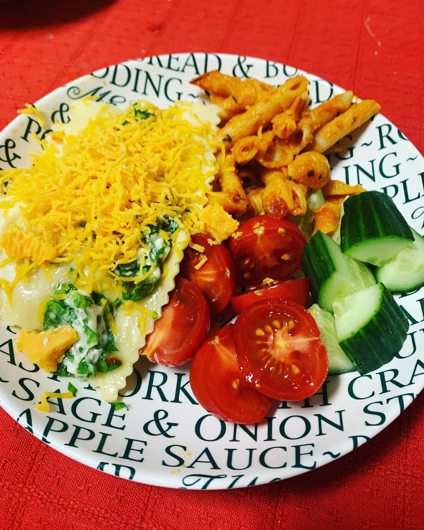
<path fill-rule="evenodd" d="M 65 351 L 78 340 L 71 326 L 60 326 L 56 330 L 37 333 L 21 329 L 16 335 L 16 348 L 46 372 L 55 372 L 56 365 Z"/>

